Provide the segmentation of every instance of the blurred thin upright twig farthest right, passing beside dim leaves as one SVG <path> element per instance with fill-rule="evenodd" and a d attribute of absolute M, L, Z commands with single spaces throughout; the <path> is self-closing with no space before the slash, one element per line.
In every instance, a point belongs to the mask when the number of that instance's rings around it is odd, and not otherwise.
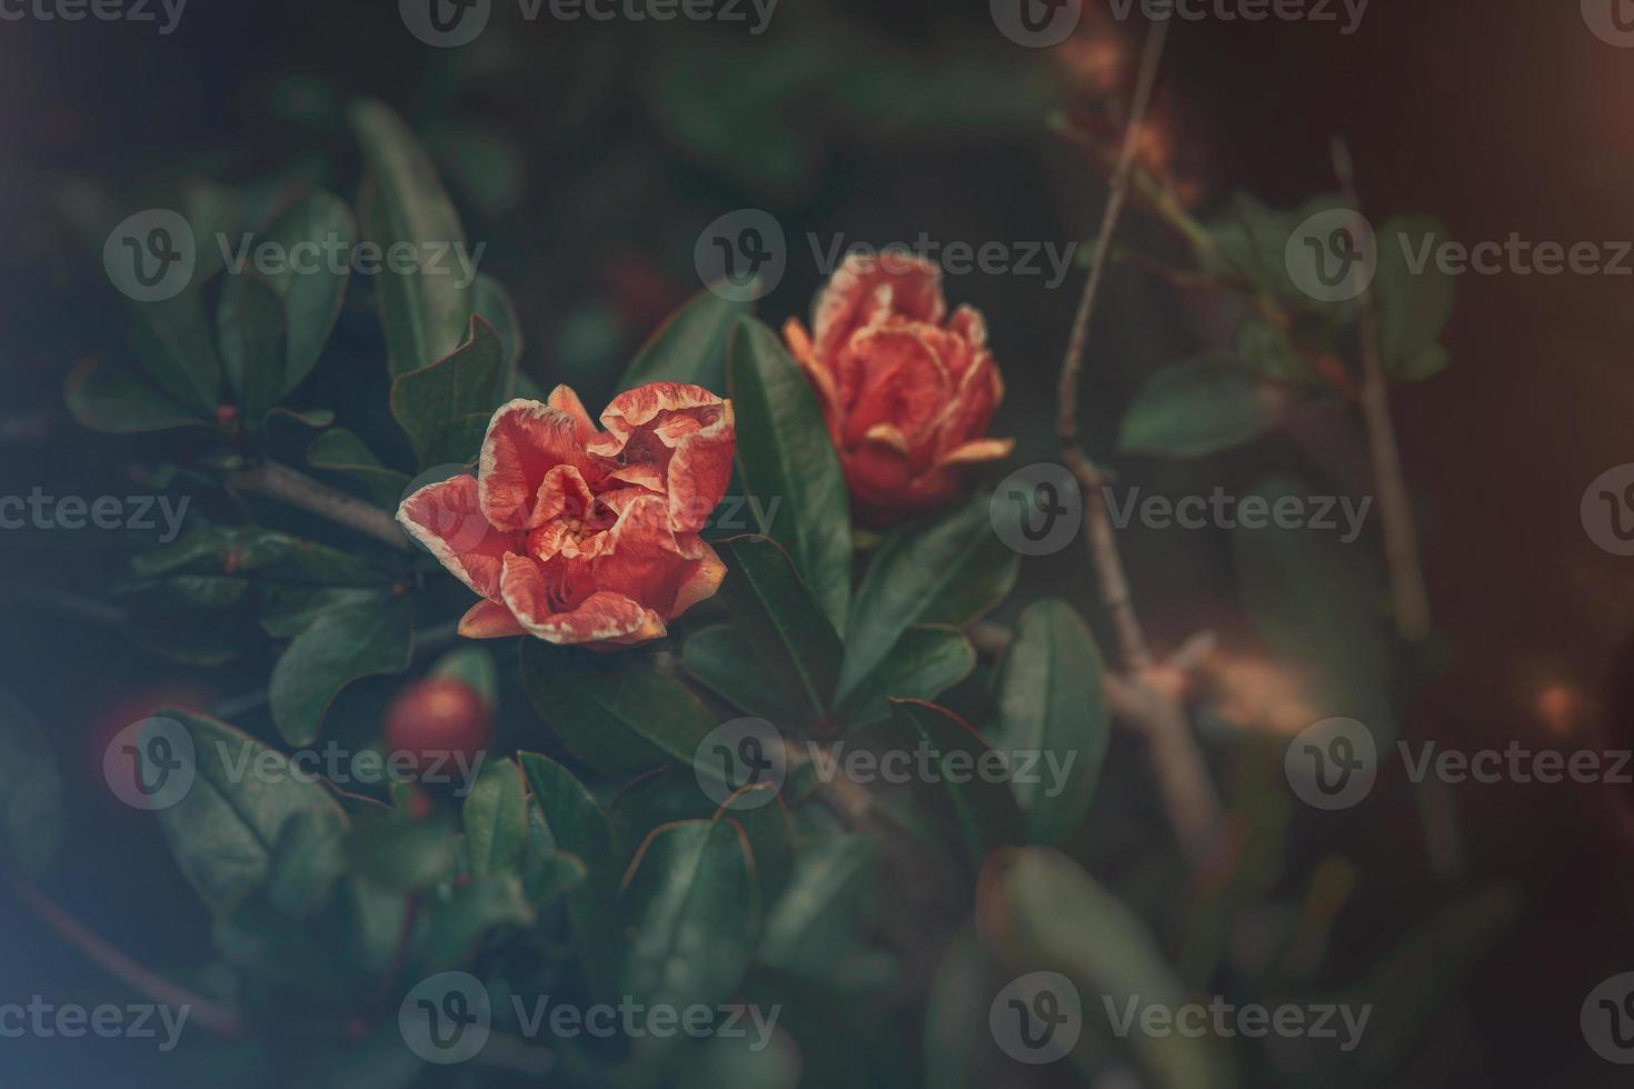
<path fill-rule="evenodd" d="M 1333 137 L 1333 173 L 1338 175 L 1345 201 L 1361 211 L 1356 193 L 1356 170 L 1345 140 Z M 1379 310 L 1371 287 L 1361 292 L 1361 416 L 1368 424 L 1368 451 L 1373 454 L 1373 487 L 1379 493 L 1379 516 L 1384 519 L 1384 558 L 1391 568 L 1391 599 L 1395 602 L 1395 630 L 1409 642 L 1430 633 L 1430 591 L 1418 560 L 1418 529 L 1402 473 L 1402 456 L 1395 446 L 1391 421 L 1391 397 L 1384 377 L 1384 353 L 1379 341 Z"/>

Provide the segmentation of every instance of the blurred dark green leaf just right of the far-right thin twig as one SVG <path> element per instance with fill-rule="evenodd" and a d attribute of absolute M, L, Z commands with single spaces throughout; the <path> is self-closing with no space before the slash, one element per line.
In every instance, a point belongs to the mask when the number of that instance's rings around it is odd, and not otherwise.
<path fill-rule="evenodd" d="M 1435 261 L 1446 240 L 1446 227 L 1435 216 L 1395 216 L 1379 229 L 1373 297 L 1379 307 L 1379 354 L 1391 374 L 1436 348 L 1453 318 L 1453 278 Z M 1415 273 L 1420 256 L 1425 263 Z"/>

